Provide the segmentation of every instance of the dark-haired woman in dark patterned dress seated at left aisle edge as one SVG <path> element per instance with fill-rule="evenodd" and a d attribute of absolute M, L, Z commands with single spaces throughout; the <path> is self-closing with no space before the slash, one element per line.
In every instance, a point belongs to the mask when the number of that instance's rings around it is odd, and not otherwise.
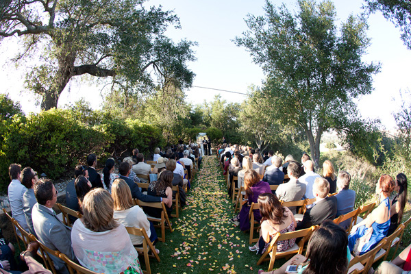
<path fill-rule="evenodd" d="M 171 186 L 173 184 L 173 172 L 171 171 L 162 171 L 158 176 L 157 181 L 153 181 L 149 184 L 149 188 L 147 190 L 147 194 L 153 197 L 162 197 L 167 198 L 169 200 L 173 199 L 173 190 Z M 172 206 L 166 206 L 167 213 L 171 216 L 171 210 L 173 209 Z M 155 218 L 160 218 L 162 209 L 161 208 L 145 208 L 145 212 L 150 216 Z"/>

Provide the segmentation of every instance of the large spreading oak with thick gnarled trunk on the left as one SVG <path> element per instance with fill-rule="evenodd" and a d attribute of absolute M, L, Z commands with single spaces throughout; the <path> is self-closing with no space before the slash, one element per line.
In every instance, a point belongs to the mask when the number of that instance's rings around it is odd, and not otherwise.
<path fill-rule="evenodd" d="M 32 58 L 26 86 L 42 96 L 41 108 L 57 107 L 75 76 L 112 77 L 112 88 L 127 94 L 177 81 L 187 88 L 195 76 L 194 42 L 175 44 L 164 36 L 179 19 L 170 11 L 144 8 L 145 0 L 5 0 L 0 5 L 0 41 L 21 36 L 16 60 Z M 148 69 L 151 68 L 151 71 Z"/>

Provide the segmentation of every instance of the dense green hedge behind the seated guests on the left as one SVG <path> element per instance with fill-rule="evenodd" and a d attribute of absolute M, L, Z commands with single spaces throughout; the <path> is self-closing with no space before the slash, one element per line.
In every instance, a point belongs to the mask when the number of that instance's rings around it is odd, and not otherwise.
<path fill-rule="evenodd" d="M 153 125 L 103 112 L 90 112 L 90 116 L 79 119 L 81 113 L 53 108 L 1 120 L 0 190 L 8 185 L 8 166 L 13 162 L 58 179 L 79 162 L 85 164 L 89 153 L 101 159 L 117 159 L 130 155 L 136 147 L 142 153 L 151 153 L 164 145 L 162 131 Z M 89 123 L 91 120 L 93 123 Z"/>

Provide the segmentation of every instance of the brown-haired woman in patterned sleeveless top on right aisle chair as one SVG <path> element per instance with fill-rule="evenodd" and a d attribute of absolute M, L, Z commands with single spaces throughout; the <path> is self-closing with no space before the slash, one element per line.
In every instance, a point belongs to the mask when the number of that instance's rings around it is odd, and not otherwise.
<path fill-rule="evenodd" d="M 261 223 L 260 240 L 249 249 L 262 254 L 278 232 L 281 234 L 293 232 L 297 223 L 292 212 L 287 207 L 282 206 L 281 202 L 272 193 L 260 194 L 258 204 L 260 205 L 261 219 L 264 221 Z M 277 242 L 277 252 L 284 252 L 294 244 L 295 238 Z"/>

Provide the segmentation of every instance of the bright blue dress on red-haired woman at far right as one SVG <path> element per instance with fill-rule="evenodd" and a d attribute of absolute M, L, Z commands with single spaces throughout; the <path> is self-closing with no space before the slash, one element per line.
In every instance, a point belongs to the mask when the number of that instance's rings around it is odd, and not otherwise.
<path fill-rule="evenodd" d="M 388 217 L 389 217 L 390 216 L 390 200 L 386 198 L 381 203 L 384 203 L 384 206 L 388 207 Z M 381 203 L 379 204 L 381 205 Z M 369 242 L 366 242 L 366 244 L 362 247 L 360 255 L 373 249 L 378 244 L 379 241 L 381 241 L 385 236 L 387 236 L 390 223 L 391 221 L 388 218 L 388 221 L 384 223 L 374 222 L 371 225 L 371 227 L 373 227 L 373 234 L 371 234 L 371 238 Z M 366 232 L 368 231 L 368 229 L 369 229 L 368 227 L 365 227 L 365 225 L 362 225 L 358 227 L 356 232 L 348 236 L 348 247 L 351 252 L 353 251 L 354 246 L 356 245 L 356 241 L 362 236 L 364 236 Z"/>

